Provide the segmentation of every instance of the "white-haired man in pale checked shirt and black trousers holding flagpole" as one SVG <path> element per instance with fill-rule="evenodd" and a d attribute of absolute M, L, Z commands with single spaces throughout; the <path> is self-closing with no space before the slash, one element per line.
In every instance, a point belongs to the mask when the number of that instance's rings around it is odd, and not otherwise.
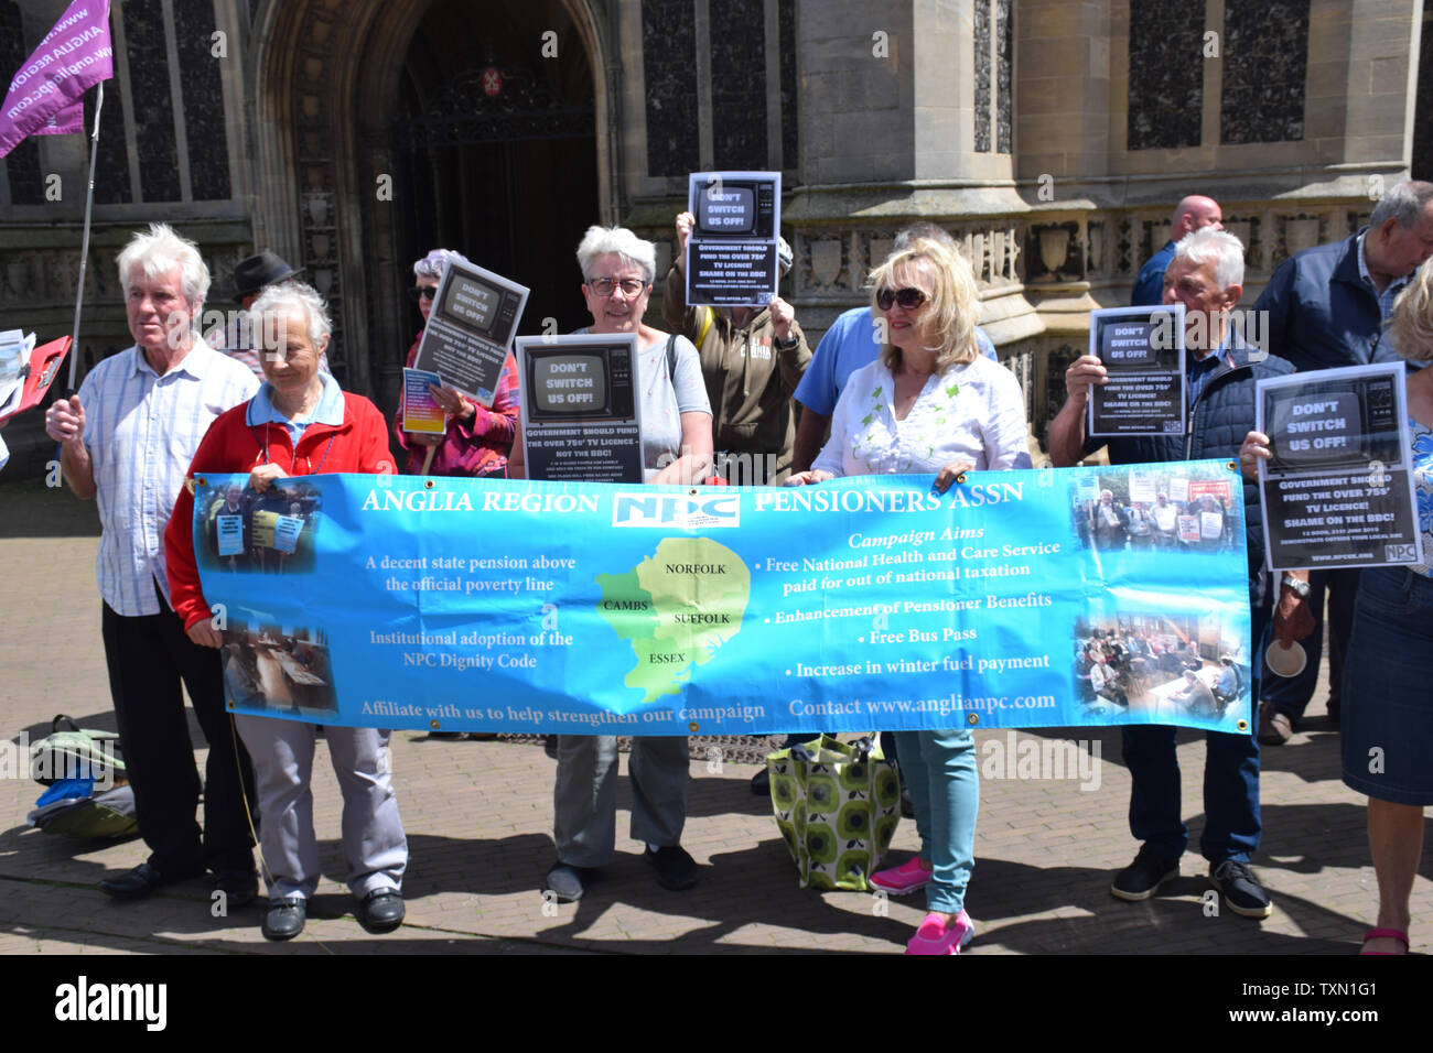
<path fill-rule="evenodd" d="M 100 888 L 138 900 L 208 870 L 235 907 L 257 891 L 241 795 L 254 776 L 229 729 L 219 655 L 193 643 L 169 606 L 163 533 L 209 424 L 248 400 L 258 381 L 198 334 L 209 269 L 193 242 L 152 223 L 119 254 L 119 279 L 135 345 L 99 362 L 79 394 L 57 400 L 44 418 L 70 489 L 99 499 L 105 658 L 139 832 L 150 851 Z M 181 682 L 209 741 L 202 835 Z"/>

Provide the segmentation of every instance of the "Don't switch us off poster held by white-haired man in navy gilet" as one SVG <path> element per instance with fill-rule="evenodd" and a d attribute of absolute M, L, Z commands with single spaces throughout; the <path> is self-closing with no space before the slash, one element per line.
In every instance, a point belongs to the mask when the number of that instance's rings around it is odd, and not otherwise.
<path fill-rule="evenodd" d="M 1184 434 L 1184 304 L 1092 311 L 1089 352 L 1109 377 L 1092 385 L 1091 436 Z"/>

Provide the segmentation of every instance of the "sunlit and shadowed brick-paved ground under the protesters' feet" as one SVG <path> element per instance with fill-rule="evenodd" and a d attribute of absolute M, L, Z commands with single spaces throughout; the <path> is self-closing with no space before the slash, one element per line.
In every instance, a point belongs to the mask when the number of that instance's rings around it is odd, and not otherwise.
<path fill-rule="evenodd" d="M 32 481 L 0 486 L 6 739 L 46 734 L 59 712 L 86 726 L 115 726 L 99 639 L 96 536 L 93 504 Z M 1144 904 L 1111 897 L 1113 872 L 1136 848 L 1125 821 L 1129 776 L 1118 734 L 979 732 L 986 771 L 967 898 L 977 924 L 970 953 L 1356 951 L 1377 888 L 1364 802 L 1338 778 L 1338 736 L 1323 699 L 1321 692 L 1293 745 L 1264 752 L 1264 844 L 1254 865 L 1275 910 L 1262 923 L 1227 910 L 1207 915 L 1207 865 L 1197 852 L 1185 855 L 1179 880 L 1159 897 Z M 198 723 L 193 736 L 202 741 Z M 1092 769 L 1098 788 L 1082 788 L 1073 776 L 1019 778 L 1012 744 L 1019 751 L 1052 738 L 1078 739 L 1091 759 L 1099 758 Z M 1201 735 L 1181 735 L 1194 845 L 1202 825 L 1202 754 Z M 0 778 L 0 814 L 7 817 L 0 821 L 0 953 L 897 953 L 920 920 L 919 897 L 887 904 L 798 890 L 770 802 L 748 789 L 755 765 L 699 754 L 684 837 L 702 865 L 696 888 L 668 893 L 653 883 L 641 845 L 625 837 L 631 798 L 623 778 L 616 862 L 580 904 L 545 905 L 553 768 L 540 745 L 397 734 L 396 785 L 411 847 L 408 917 L 400 931 L 373 937 L 354 921 L 342 885 L 338 789 L 320 756 L 314 801 L 324 880 L 312 904 L 317 917 L 292 944 L 267 944 L 252 907 L 212 917 L 202 881 L 136 904 L 110 903 L 96 883 L 107 870 L 140 862 L 143 844 L 27 830 L 24 815 L 39 787 Z M 896 848 L 916 848 L 913 822 L 901 824 Z M 1426 953 L 1433 943 L 1433 852 L 1424 851 L 1413 898 L 1414 948 Z"/>

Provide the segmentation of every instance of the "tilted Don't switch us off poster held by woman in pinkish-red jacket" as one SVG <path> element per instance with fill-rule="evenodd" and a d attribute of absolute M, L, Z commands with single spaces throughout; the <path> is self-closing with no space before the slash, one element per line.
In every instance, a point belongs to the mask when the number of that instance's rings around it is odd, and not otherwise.
<path fill-rule="evenodd" d="M 492 407 L 526 307 L 526 285 L 449 259 L 413 368 L 440 374 L 454 390 Z"/>

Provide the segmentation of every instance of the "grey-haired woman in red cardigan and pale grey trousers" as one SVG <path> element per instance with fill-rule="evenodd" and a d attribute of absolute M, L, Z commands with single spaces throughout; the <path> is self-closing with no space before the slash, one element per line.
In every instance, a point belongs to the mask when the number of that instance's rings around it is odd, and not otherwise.
<path fill-rule="evenodd" d="M 334 471 L 391 474 L 387 425 L 378 408 L 344 393 L 318 371 L 331 325 L 324 301 L 308 285 L 267 289 L 251 309 L 261 338 L 265 384 L 252 400 L 214 421 L 189 466 L 205 471 L 248 471 L 265 493 L 275 480 Z M 193 497 L 179 491 L 165 532 L 171 603 L 195 643 L 219 648 L 195 567 Z M 254 759 L 259 795 L 259 847 L 269 874 L 262 933 L 291 940 L 304 930 L 305 904 L 318 885 L 318 841 L 310 779 L 317 728 L 275 716 L 236 713 L 234 725 Z M 348 887 L 360 901 L 358 921 L 374 933 L 403 923 L 403 872 L 408 844 L 398 818 L 388 764 L 388 732 L 325 728 L 328 755 L 344 795 L 344 852 Z"/>

